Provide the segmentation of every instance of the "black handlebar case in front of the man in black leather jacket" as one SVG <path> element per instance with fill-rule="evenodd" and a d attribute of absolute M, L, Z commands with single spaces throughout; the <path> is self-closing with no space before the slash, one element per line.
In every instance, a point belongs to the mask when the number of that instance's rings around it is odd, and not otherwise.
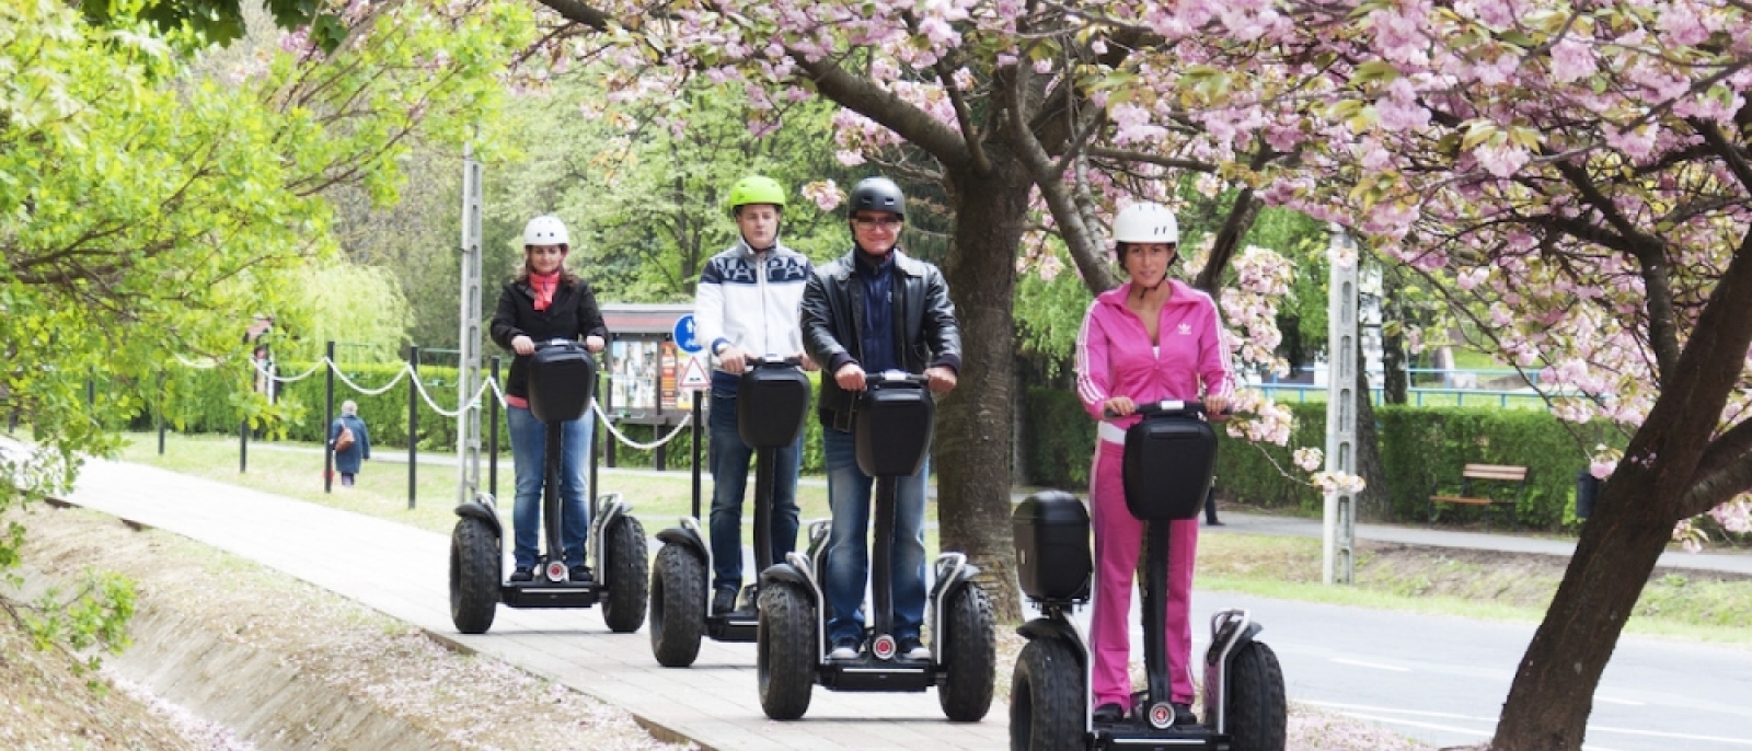
<path fill-rule="evenodd" d="M 918 474 L 930 450 L 936 413 L 937 404 L 923 383 L 871 378 L 851 427 L 858 469 L 872 478 Z"/>

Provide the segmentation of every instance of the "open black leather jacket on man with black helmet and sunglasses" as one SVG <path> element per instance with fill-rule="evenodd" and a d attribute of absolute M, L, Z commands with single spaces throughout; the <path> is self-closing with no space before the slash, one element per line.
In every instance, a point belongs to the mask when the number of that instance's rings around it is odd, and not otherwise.
<path fill-rule="evenodd" d="M 834 380 L 846 362 L 860 361 L 858 331 L 864 326 L 864 282 L 857 275 L 857 257 L 862 250 L 837 257 L 815 268 L 815 277 L 802 291 L 802 347 L 822 364 L 822 397 L 816 413 L 822 425 L 836 431 L 851 429 L 853 394 L 839 389 Z M 955 303 L 943 271 L 925 261 L 911 259 L 894 250 L 894 329 L 895 354 L 909 373 L 925 368 L 948 366 L 962 369 L 962 331 L 955 322 Z M 860 362 L 862 364 L 862 362 Z"/>

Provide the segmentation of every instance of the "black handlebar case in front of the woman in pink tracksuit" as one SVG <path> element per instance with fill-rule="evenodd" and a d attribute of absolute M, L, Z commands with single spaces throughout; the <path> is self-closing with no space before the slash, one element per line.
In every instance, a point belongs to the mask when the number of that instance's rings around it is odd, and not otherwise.
<path fill-rule="evenodd" d="M 1216 473 L 1216 431 L 1188 415 L 1148 415 L 1125 431 L 1125 506 L 1146 522 L 1198 516 Z"/>

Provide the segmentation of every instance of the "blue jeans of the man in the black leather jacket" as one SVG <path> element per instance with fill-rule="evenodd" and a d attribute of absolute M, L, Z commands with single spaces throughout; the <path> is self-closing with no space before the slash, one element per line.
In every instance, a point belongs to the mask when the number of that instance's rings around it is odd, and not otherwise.
<path fill-rule="evenodd" d="M 834 527 L 827 536 L 827 621 L 829 642 L 862 639 L 864 585 L 869 579 L 871 488 L 874 480 L 858 469 L 855 439 L 832 427 L 822 431 L 827 462 L 827 504 Z M 888 581 L 894 586 L 894 637 L 916 639 L 925 621 L 925 474 L 895 480 L 894 544 Z"/>

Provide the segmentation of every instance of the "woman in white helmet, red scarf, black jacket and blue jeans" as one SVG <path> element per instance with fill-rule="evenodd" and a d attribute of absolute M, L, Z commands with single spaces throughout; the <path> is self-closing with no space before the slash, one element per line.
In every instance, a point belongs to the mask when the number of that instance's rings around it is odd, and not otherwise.
<path fill-rule="evenodd" d="M 536 565 L 536 539 L 541 529 L 541 466 L 547 432 L 529 411 L 529 355 L 536 341 L 583 341 L 590 352 L 601 352 L 608 341 L 608 326 L 596 306 L 590 284 L 566 270 L 571 236 L 566 222 L 541 215 L 524 226 L 524 266 L 499 292 L 499 308 L 492 313 L 492 341 L 512 350 L 512 375 L 505 382 L 506 422 L 512 429 L 512 457 L 517 464 L 517 504 L 512 511 L 515 548 L 512 551 L 512 581 L 531 581 Z M 571 581 L 590 581 L 590 567 L 583 562 L 583 543 L 590 532 L 590 511 L 585 504 L 590 434 L 596 417 L 589 411 L 564 425 L 561 459 L 561 502 L 564 502 L 566 565 Z"/>

